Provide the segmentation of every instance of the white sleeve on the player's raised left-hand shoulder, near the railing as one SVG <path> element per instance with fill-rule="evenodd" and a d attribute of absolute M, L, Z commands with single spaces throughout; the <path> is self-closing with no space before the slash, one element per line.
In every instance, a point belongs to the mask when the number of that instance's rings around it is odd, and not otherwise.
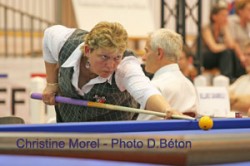
<path fill-rule="evenodd" d="M 60 50 L 75 31 L 62 25 L 54 25 L 44 31 L 43 58 L 48 63 L 57 63 Z"/>

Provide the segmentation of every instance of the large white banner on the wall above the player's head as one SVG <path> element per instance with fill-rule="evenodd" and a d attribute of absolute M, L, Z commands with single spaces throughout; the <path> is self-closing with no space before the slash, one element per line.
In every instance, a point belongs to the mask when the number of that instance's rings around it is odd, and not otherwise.
<path fill-rule="evenodd" d="M 129 36 L 147 36 L 154 30 L 149 0 L 73 0 L 79 28 L 92 29 L 100 21 L 121 23 Z"/>

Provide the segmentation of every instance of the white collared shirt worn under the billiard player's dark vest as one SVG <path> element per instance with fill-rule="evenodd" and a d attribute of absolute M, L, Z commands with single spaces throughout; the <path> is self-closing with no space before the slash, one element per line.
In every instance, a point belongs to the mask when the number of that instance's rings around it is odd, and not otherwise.
<path fill-rule="evenodd" d="M 43 58 L 48 63 L 57 63 L 58 56 L 64 43 L 69 36 L 75 31 L 74 28 L 66 28 L 61 25 L 49 27 L 44 32 L 43 39 Z M 61 67 L 73 67 L 74 73 L 72 76 L 72 85 L 77 92 L 84 96 L 88 93 L 95 84 L 108 81 L 111 84 L 111 76 L 102 78 L 100 76 L 91 79 L 83 87 L 78 87 L 79 69 L 81 60 L 81 46 L 80 44 L 70 55 L 70 57 L 62 64 Z M 150 83 L 150 80 L 145 77 L 139 60 L 134 56 L 125 57 L 118 65 L 115 71 L 116 84 L 120 91 L 127 90 L 134 99 L 141 104 L 142 108 L 145 107 L 148 98 L 160 92 Z"/>

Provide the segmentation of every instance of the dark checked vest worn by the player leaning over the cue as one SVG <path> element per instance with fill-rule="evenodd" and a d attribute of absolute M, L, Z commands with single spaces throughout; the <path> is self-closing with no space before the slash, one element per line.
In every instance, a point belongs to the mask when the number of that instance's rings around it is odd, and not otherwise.
<path fill-rule="evenodd" d="M 59 65 L 61 66 L 76 49 L 76 47 L 84 41 L 84 35 L 88 32 L 76 30 L 65 42 L 60 50 Z M 125 55 L 128 54 L 127 52 Z M 73 67 L 59 69 L 59 88 L 60 95 L 75 99 L 88 101 L 103 101 L 107 104 L 121 105 L 126 107 L 136 107 L 137 103 L 127 92 L 121 92 L 116 85 L 114 74 L 112 76 L 112 84 L 108 82 L 96 84 L 85 94 L 80 96 L 71 83 L 73 75 Z M 84 107 L 70 104 L 58 104 L 56 106 L 57 122 L 86 122 L 86 121 L 117 121 L 131 120 L 134 113 L 113 111 L 94 107 Z"/>

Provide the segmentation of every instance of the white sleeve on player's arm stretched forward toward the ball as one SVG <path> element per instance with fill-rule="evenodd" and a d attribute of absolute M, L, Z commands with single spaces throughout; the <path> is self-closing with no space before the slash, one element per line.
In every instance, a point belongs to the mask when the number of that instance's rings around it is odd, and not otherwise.
<path fill-rule="evenodd" d="M 145 108 L 148 98 L 160 92 L 151 84 L 142 71 L 139 60 L 134 56 L 125 57 L 118 65 L 115 79 L 121 91 L 127 90 Z"/>

